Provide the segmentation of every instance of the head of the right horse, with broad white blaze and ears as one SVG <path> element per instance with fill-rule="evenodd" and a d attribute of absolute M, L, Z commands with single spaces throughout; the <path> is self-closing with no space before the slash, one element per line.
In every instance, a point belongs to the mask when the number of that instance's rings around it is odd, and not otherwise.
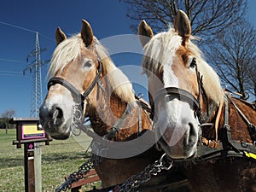
<path fill-rule="evenodd" d="M 144 48 L 143 68 L 148 77 L 154 131 L 161 147 L 172 159 L 196 155 L 201 137 L 201 113 L 207 103 L 223 101 L 218 75 L 191 42 L 188 16 L 178 11 L 174 28 L 153 35 L 145 20 L 139 35 Z"/>

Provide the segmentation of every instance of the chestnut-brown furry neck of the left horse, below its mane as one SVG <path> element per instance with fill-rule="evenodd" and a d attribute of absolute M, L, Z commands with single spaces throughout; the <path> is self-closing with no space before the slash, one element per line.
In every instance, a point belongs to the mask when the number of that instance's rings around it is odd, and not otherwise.
<path fill-rule="evenodd" d="M 139 132 L 139 113 L 141 113 L 141 128 L 151 130 L 151 121 L 144 110 L 139 110 L 137 102 L 128 104 L 114 93 L 109 96 L 108 89 L 105 92 L 99 91 L 98 100 L 93 108 L 88 112 L 93 130 L 99 136 L 108 134 L 108 131 L 119 123 L 120 118 L 124 119 L 119 134 L 115 137 L 116 141 L 127 141 L 138 136 Z M 126 114 L 127 113 L 127 114 Z M 124 118 L 124 115 L 125 118 Z"/>

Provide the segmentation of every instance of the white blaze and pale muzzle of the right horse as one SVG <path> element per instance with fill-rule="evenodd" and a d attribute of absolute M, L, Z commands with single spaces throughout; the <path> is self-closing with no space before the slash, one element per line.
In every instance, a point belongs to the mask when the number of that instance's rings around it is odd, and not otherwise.
<path fill-rule="evenodd" d="M 172 71 L 172 65 L 163 66 L 163 85 L 165 88 L 179 88 L 179 80 Z M 189 103 L 164 96 L 157 102 L 156 110 L 156 134 L 165 140 L 170 157 L 189 158 L 195 154 L 198 121 Z"/>

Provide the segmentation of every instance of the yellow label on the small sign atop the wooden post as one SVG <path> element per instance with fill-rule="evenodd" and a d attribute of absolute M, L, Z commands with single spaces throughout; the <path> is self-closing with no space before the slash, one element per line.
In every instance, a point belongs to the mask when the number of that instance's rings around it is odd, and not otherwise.
<path fill-rule="evenodd" d="M 37 124 L 22 125 L 22 139 L 44 138 L 44 130 L 38 130 Z"/>

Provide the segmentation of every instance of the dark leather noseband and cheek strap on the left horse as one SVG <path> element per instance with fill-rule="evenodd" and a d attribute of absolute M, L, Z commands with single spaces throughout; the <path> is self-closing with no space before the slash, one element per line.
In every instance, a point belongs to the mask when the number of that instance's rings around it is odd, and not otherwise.
<path fill-rule="evenodd" d="M 98 59 L 98 63 L 99 63 L 99 68 L 97 70 L 96 78 L 90 84 L 89 88 L 84 91 L 83 94 L 81 94 L 80 91 L 73 86 L 73 84 L 69 83 L 67 80 L 62 79 L 60 77 L 54 77 L 54 78 L 49 79 L 49 82 L 47 84 L 48 90 L 54 84 L 61 84 L 62 86 L 67 88 L 67 90 L 69 90 L 74 96 L 77 96 L 77 98 L 79 98 L 79 101 L 81 101 L 81 106 L 82 106 L 82 108 L 84 108 L 84 100 L 85 100 L 85 98 L 87 96 L 89 96 L 91 90 L 93 90 L 93 88 L 96 86 L 97 82 L 101 78 L 102 61 L 100 61 L 100 59 Z"/>

